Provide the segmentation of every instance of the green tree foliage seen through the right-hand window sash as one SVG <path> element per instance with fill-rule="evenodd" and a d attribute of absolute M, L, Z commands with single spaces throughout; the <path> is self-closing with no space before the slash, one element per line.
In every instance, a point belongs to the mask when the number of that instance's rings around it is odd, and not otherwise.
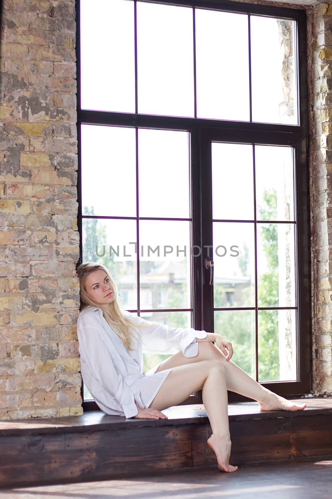
<path fill-rule="evenodd" d="M 258 207 L 259 220 L 276 220 L 276 191 L 265 191 L 263 205 Z M 267 271 L 260 276 L 257 289 L 258 306 L 278 305 L 278 238 L 276 224 L 260 225 L 260 241 L 266 257 Z M 248 247 L 244 245 L 238 256 L 242 275 L 247 275 Z M 243 306 L 250 299 L 249 286 L 242 291 L 241 303 L 234 301 L 234 307 Z M 224 302 L 221 285 L 214 286 L 215 303 Z M 245 296 L 245 295 L 244 295 Z M 247 301 L 249 303 L 249 301 Z M 222 305 L 221 305 L 222 306 Z M 230 310 L 215 312 L 215 332 L 231 341 L 232 357 L 243 371 L 255 377 L 254 312 L 250 310 Z M 261 310 L 258 313 L 258 377 L 259 381 L 279 379 L 278 311 Z"/>

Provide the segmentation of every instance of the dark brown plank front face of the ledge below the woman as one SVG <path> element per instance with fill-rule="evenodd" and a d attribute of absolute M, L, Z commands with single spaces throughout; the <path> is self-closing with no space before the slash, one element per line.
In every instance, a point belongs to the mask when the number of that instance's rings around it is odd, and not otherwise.
<path fill-rule="evenodd" d="M 165 421 L 165 420 L 163 420 Z M 215 465 L 210 423 L 0 437 L 0 485 L 129 477 Z M 230 421 L 231 464 L 332 454 L 332 415 Z"/>

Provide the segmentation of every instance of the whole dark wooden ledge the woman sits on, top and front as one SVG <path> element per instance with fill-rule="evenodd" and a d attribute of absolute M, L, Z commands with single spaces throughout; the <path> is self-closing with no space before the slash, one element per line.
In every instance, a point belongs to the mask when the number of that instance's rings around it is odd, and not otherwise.
<path fill-rule="evenodd" d="M 305 401 L 306 409 L 261 412 L 256 402 L 229 404 L 230 463 L 332 455 L 332 399 L 294 401 Z M 204 407 L 163 412 L 167 420 L 93 411 L 79 417 L 0 421 L 0 487 L 126 479 L 215 465 Z"/>

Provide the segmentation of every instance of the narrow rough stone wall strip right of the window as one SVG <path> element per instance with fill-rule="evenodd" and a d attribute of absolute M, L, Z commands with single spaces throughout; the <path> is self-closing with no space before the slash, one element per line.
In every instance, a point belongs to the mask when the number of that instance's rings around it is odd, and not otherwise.
<path fill-rule="evenodd" d="M 312 21 L 313 392 L 332 396 L 332 5 L 313 7 Z"/>

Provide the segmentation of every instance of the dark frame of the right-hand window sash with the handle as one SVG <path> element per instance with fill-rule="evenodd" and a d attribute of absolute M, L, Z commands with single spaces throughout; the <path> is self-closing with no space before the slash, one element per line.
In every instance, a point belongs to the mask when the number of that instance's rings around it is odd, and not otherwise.
<path fill-rule="evenodd" d="M 234 137 L 236 135 L 236 137 Z M 302 133 L 287 134 L 285 138 L 283 132 L 267 132 L 248 131 L 237 129 L 226 130 L 219 127 L 204 128 L 200 130 L 200 150 L 201 163 L 208 165 L 206 168 L 207 174 L 202 181 L 202 197 L 212 199 L 212 178 L 211 178 L 211 141 L 227 142 L 227 143 L 246 143 L 246 144 L 264 144 L 276 146 L 290 146 L 294 148 L 295 161 L 295 176 L 294 176 L 294 209 L 296 221 L 296 250 L 297 258 L 295 259 L 295 306 L 266 306 L 258 307 L 258 309 L 298 309 L 296 315 L 296 339 L 297 339 L 297 371 L 299 373 L 298 381 L 266 381 L 260 384 L 278 395 L 288 397 L 299 397 L 308 394 L 312 390 L 311 380 L 311 281 L 310 281 L 310 210 L 309 210 L 309 168 L 307 163 L 307 136 Z M 212 204 L 203 211 L 202 217 L 202 239 L 204 245 L 211 245 L 212 241 Z M 256 217 L 255 217 L 256 220 Z M 246 221 L 247 222 L 247 221 Z M 238 223 L 238 221 L 234 222 Z M 251 222 L 247 222 L 251 223 Z M 288 223 L 288 222 L 279 222 Z M 292 223 L 292 222 L 289 222 Z M 208 256 L 207 250 L 202 251 L 203 259 Z M 256 263 L 257 264 L 257 263 Z M 203 268 L 203 267 L 202 267 Z M 236 310 L 234 307 L 215 307 L 213 299 L 213 286 L 209 285 L 210 270 L 203 274 L 204 286 L 204 310 L 203 329 L 214 330 L 214 310 Z M 257 294 L 257 282 L 255 283 L 255 293 Z M 257 304 L 255 304 L 257 307 Z M 245 307 L 238 307 L 245 309 Z M 252 308 L 252 307 L 248 307 Z M 255 325 L 255 336 L 257 335 L 257 322 Z M 299 334 L 299 332 L 301 332 Z M 258 379 L 258 347 L 256 339 L 256 377 Z M 245 397 L 237 393 L 228 392 L 229 400 L 243 400 Z"/>

